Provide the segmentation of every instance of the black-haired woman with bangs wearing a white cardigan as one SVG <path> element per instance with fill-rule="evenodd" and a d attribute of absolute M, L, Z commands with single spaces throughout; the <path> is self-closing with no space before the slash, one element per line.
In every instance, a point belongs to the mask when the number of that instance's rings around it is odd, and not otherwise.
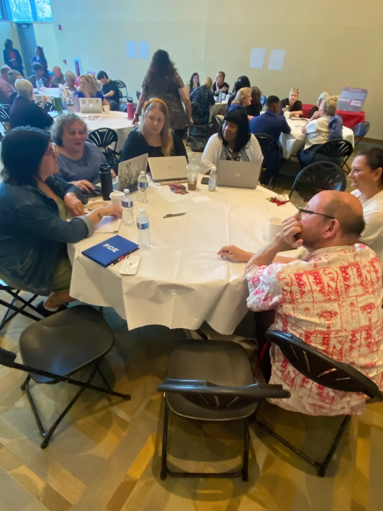
<path fill-rule="evenodd" d="M 201 163 L 211 169 L 219 160 L 262 163 L 264 157 L 257 139 L 249 130 L 246 112 L 227 112 L 218 133 L 211 135 L 202 154 Z"/>

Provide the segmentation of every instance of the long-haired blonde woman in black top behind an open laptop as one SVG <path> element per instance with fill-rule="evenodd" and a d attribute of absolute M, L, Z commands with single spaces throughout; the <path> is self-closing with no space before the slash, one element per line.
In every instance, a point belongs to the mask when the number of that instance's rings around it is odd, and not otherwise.
<path fill-rule="evenodd" d="M 129 133 L 121 161 L 148 153 L 159 156 L 186 156 L 181 138 L 170 129 L 169 110 L 164 101 L 153 98 L 146 101 L 137 128 Z"/>

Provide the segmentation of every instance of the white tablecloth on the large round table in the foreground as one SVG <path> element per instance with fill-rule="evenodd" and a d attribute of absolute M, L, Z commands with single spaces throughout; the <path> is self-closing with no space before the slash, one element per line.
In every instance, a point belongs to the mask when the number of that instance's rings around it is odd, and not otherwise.
<path fill-rule="evenodd" d="M 181 196 L 150 182 L 149 202 L 143 206 L 133 194 L 134 216 L 145 207 L 151 233 L 151 246 L 136 252 L 141 256 L 136 275 L 121 276 L 123 262 L 103 268 L 82 255 L 111 234 L 94 234 L 68 245 L 73 264 L 70 296 L 113 307 L 129 329 L 162 324 L 195 330 L 206 320 L 217 332 L 231 334 L 247 311 L 245 263 L 221 259 L 217 251 L 228 244 L 259 249 L 266 244 L 269 218 L 284 219 L 297 210 L 291 203 L 277 206 L 267 201 L 275 194 L 259 185 L 256 190 L 218 188 L 211 193 L 200 179 L 195 192 Z M 201 196 L 211 200 L 193 200 Z M 188 214 L 162 218 L 183 211 Z M 122 225 L 119 235 L 136 242 L 137 228 Z"/>

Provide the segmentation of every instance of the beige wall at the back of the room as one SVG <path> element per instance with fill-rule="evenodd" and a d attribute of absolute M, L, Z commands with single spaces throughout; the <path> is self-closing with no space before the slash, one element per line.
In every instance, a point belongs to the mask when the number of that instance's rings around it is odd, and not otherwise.
<path fill-rule="evenodd" d="M 83 72 L 100 68 L 124 80 L 134 96 L 148 60 L 128 59 L 127 39 L 149 41 L 150 55 L 169 51 L 186 82 L 193 72 L 232 86 L 245 74 L 266 95 L 286 97 L 292 86 L 303 103 L 322 90 L 369 90 L 369 136 L 383 139 L 383 2 L 377 0 L 51 0 L 60 61 L 80 57 Z M 74 14 L 76 13 L 76 14 Z M 62 25 L 58 31 L 57 25 Z M 250 69 L 253 47 L 266 48 L 263 69 Z M 270 50 L 286 51 L 281 72 L 268 71 Z M 63 67 L 65 67 L 63 65 Z"/>

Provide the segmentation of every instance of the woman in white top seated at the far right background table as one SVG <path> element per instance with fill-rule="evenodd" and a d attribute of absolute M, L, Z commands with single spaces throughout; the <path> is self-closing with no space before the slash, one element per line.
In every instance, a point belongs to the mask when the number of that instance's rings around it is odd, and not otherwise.
<path fill-rule="evenodd" d="M 302 133 L 307 135 L 304 150 L 298 153 L 298 159 L 303 169 L 306 165 L 313 162 L 318 147 L 328 142 L 330 128 L 328 123 L 331 117 L 337 112 L 338 96 L 326 97 L 319 107 L 318 112 L 314 112 L 313 117 L 303 126 Z M 321 157 L 325 160 L 326 157 Z"/>

